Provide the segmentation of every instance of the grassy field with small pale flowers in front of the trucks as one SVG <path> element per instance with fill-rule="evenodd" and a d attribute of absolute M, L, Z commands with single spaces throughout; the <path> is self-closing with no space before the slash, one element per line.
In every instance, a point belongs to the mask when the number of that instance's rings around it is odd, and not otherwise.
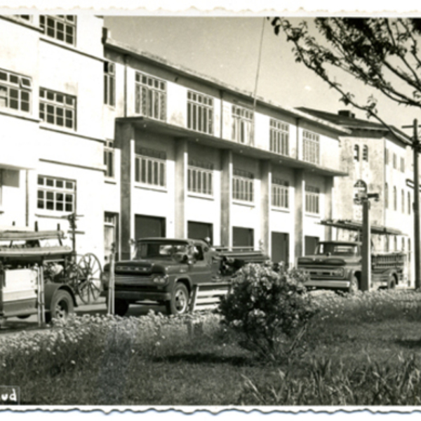
<path fill-rule="evenodd" d="M 421 294 L 335 294 L 305 349 L 265 363 L 217 314 L 86 316 L 0 342 L 0 384 L 28 405 L 420 405 Z"/>

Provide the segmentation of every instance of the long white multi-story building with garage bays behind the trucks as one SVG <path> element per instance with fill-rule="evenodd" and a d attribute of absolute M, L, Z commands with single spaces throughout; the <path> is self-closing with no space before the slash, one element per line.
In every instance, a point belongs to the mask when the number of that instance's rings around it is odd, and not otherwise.
<path fill-rule="evenodd" d="M 68 230 L 120 258 L 210 237 L 292 264 L 328 239 L 346 175 L 328 119 L 115 41 L 89 15 L 0 19 L 0 225 Z"/>

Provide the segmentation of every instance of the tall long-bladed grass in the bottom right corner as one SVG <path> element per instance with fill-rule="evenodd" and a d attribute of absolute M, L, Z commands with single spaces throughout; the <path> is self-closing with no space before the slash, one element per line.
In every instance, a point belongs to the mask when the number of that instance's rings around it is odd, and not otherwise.
<path fill-rule="evenodd" d="M 420 363 L 415 356 L 397 363 L 377 363 L 367 359 L 363 366 L 333 366 L 330 359 L 313 359 L 305 380 L 290 368 L 278 370 L 271 382 L 257 385 L 249 378 L 240 401 L 247 405 L 333 405 L 380 406 L 421 403 Z"/>

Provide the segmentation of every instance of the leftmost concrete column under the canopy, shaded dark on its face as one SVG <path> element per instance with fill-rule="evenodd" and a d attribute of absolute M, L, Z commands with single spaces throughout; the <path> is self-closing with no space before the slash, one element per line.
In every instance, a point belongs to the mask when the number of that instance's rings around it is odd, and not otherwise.
<path fill-rule="evenodd" d="M 121 151 L 120 187 L 120 232 L 121 259 L 131 258 L 130 241 L 134 236 L 134 215 L 132 215 L 132 190 L 134 182 L 135 128 L 130 123 L 116 124 L 116 147 Z"/>

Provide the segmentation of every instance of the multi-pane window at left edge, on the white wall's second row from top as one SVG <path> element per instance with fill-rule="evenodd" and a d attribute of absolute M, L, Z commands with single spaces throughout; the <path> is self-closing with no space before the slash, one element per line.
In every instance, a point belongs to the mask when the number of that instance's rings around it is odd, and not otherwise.
<path fill-rule="evenodd" d="M 29 77 L 0 70 L 0 108 L 31 112 L 31 93 Z"/>

